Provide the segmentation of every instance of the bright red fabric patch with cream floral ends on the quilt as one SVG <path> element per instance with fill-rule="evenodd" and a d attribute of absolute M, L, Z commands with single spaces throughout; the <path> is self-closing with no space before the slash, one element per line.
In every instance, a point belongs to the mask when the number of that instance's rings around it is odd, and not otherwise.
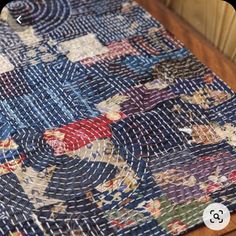
<path fill-rule="evenodd" d="M 109 124 L 123 117 L 122 113 L 113 112 L 90 120 L 75 121 L 58 129 L 47 130 L 44 139 L 54 149 L 55 156 L 71 155 L 96 139 L 111 137 Z"/>

